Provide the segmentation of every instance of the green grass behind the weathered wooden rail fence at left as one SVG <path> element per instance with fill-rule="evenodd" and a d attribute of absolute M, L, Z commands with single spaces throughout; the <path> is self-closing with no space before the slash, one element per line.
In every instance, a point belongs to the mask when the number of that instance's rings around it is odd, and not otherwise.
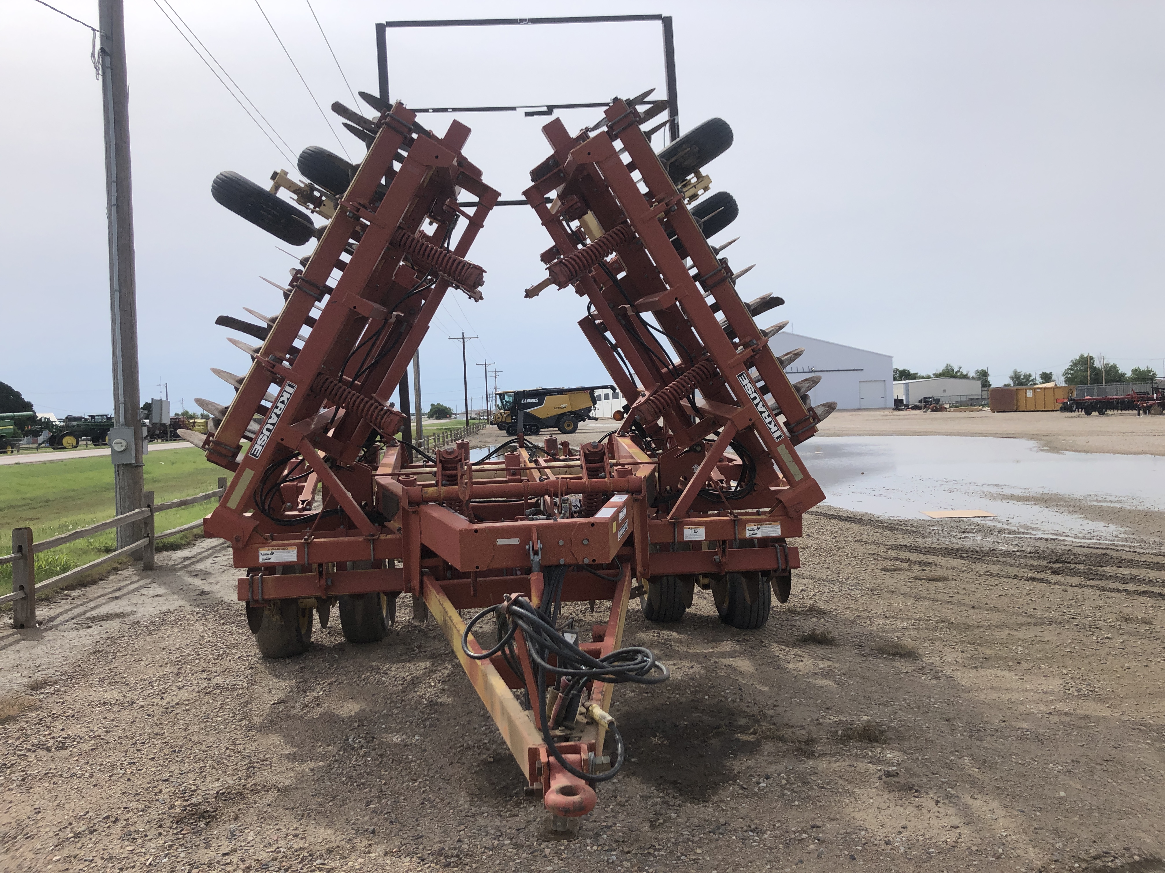
<path fill-rule="evenodd" d="M 158 503 L 218 488 L 226 470 L 206 461 L 202 452 L 176 448 L 146 455 L 146 489 Z M 157 531 L 202 518 L 213 502 L 198 503 L 157 516 Z M 12 551 L 12 528 L 31 527 L 33 539 L 43 540 L 113 518 L 113 464 L 108 457 L 76 457 L 0 467 L 0 554 Z M 158 551 L 181 548 L 196 535 L 163 540 Z M 36 556 L 36 581 L 51 579 L 87 563 L 116 546 L 115 532 L 105 531 Z M 101 568 L 97 573 L 104 573 Z M 0 594 L 12 590 L 12 565 L 0 566 Z"/>

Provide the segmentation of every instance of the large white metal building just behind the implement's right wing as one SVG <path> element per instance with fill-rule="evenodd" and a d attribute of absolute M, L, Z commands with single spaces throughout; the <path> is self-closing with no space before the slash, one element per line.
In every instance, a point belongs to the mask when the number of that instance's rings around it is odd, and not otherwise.
<path fill-rule="evenodd" d="M 813 405 L 833 400 L 841 410 L 894 406 L 892 355 L 784 331 L 769 340 L 769 348 L 776 355 L 805 349 L 786 372 L 793 382 L 812 374 L 821 376 L 820 384 L 810 392 Z"/>

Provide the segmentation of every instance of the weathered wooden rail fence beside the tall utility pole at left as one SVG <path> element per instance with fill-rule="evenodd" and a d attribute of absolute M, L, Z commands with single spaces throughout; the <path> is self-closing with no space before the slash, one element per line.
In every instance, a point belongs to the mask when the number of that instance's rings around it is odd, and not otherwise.
<path fill-rule="evenodd" d="M 12 532 L 12 554 L 0 556 L 0 565 L 12 565 L 12 594 L 6 594 L 0 597 L 0 603 L 12 603 L 13 627 L 36 627 L 36 595 L 45 594 L 51 591 L 54 588 L 59 588 L 63 584 L 72 582 L 83 574 L 97 569 L 110 561 L 115 561 L 119 558 L 125 558 L 134 554 L 135 552 L 141 552 L 142 569 L 154 569 L 155 542 L 168 539 L 169 537 L 176 537 L 177 534 L 185 533 L 186 531 L 192 531 L 203 523 L 199 518 L 190 524 L 171 527 L 169 531 L 163 531 L 162 533 L 155 533 L 154 521 L 156 514 L 158 512 L 165 512 L 167 510 L 178 509 L 179 506 L 190 506 L 196 503 L 203 503 L 204 501 L 221 498 L 224 491 L 226 491 L 225 476 L 219 477 L 219 487 L 213 491 L 196 494 L 192 497 L 179 497 L 176 501 L 167 501 L 165 503 L 155 504 L 154 492 L 146 491 L 146 505 L 140 510 L 127 512 L 123 516 L 116 516 L 106 521 L 98 521 L 96 525 L 90 525 L 89 527 L 69 531 L 69 533 L 62 533 L 58 537 L 51 537 L 38 542 L 33 540 L 31 527 L 14 528 Z M 35 555 L 38 553 L 47 552 L 48 549 L 56 548 L 57 546 L 64 546 L 68 542 L 85 539 L 86 537 L 92 537 L 96 533 L 108 531 L 112 527 L 121 527 L 122 525 L 132 524 L 134 521 L 146 521 L 146 535 L 136 542 L 132 542 L 128 546 L 123 546 L 122 548 L 111 552 L 103 558 L 98 558 L 96 561 L 90 561 L 80 567 L 75 567 L 73 569 L 62 573 L 58 576 L 44 580 L 41 584 L 36 584 Z"/>

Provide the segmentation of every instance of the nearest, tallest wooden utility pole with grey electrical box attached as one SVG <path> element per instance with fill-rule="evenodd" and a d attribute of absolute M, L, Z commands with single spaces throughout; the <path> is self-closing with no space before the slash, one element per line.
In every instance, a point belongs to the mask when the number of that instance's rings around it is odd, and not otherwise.
<path fill-rule="evenodd" d="M 121 0 L 98 0 L 101 30 L 101 109 L 105 115 L 105 192 L 110 229 L 110 313 L 113 333 L 113 420 L 125 428 L 118 440 L 125 450 L 113 454 L 116 514 L 141 509 L 144 476 L 142 432 L 137 410 L 137 297 L 134 276 L 134 208 L 129 180 L 129 81 L 126 73 L 126 30 Z M 118 528 L 118 548 L 142 538 L 140 521 Z"/>

